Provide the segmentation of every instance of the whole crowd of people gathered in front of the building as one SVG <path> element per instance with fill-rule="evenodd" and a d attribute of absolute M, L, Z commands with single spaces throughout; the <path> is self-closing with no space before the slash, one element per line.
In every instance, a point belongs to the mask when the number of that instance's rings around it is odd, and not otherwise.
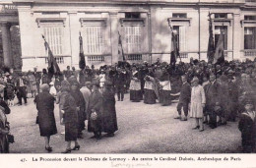
<path fill-rule="evenodd" d="M 73 67 L 55 74 L 33 72 L 2 74 L 0 79 L 1 96 L 10 105 L 14 105 L 15 95 L 19 105 L 27 103 L 30 94 L 34 97 L 38 110 L 40 136 L 45 138 L 45 149 L 51 151 L 50 136 L 57 133 L 53 114 L 54 101 L 59 104 L 60 123 L 65 127 L 67 148 L 79 149 L 77 139 L 83 139 L 85 121 L 88 131 L 93 132 L 92 139 L 101 139 L 101 133 L 113 137 L 118 130 L 115 94 L 117 101 L 123 101 L 125 93 L 130 101 L 145 104 L 159 102 L 162 106 L 177 101 L 177 117 L 187 121 L 195 118 L 194 130 L 203 132 L 204 125 L 215 129 L 239 119 L 238 129 L 242 135 L 244 152 L 253 152 L 256 141 L 256 60 L 241 62 L 224 61 L 211 64 L 202 60 L 189 63 L 168 64 L 129 64 L 118 62 L 112 66 L 95 69 L 86 66 L 76 71 Z M 182 111 L 184 116 L 182 116 Z M 71 141 L 75 146 L 71 148 Z"/>

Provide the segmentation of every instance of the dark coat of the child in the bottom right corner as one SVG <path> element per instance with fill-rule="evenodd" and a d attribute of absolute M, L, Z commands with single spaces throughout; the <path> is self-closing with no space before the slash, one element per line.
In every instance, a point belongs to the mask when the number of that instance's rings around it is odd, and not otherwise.
<path fill-rule="evenodd" d="M 247 115 L 242 113 L 238 124 L 238 129 L 241 132 L 243 146 L 255 146 L 256 140 L 256 119 L 254 121 Z"/>

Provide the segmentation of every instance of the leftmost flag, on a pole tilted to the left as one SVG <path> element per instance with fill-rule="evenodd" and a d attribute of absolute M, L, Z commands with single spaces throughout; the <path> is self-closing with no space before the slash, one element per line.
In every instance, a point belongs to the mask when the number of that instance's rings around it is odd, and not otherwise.
<path fill-rule="evenodd" d="M 45 50 L 46 51 L 48 50 L 48 76 L 49 78 L 52 78 L 53 75 L 55 75 L 56 73 L 60 73 L 60 69 L 51 52 L 48 42 L 45 40 L 43 35 L 42 35 L 42 38 L 44 39 Z"/>

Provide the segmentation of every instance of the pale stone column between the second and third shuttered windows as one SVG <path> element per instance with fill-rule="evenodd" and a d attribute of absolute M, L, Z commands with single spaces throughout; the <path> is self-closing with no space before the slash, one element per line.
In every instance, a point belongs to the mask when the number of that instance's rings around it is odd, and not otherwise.
<path fill-rule="evenodd" d="M 111 23 L 111 51 L 112 51 L 112 65 L 119 61 L 118 55 L 118 18 L 117 13 L 110 13 L 110 23 Z"/>

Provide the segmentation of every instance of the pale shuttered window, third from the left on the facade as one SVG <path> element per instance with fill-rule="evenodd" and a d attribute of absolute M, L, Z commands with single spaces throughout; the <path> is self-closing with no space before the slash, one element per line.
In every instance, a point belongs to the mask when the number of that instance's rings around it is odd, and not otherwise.
<path fill-rule="evenodd" d="M 125 27 L 125 42 L 128 53 L 141 51 L 141 30 L 140 26 Z"/>

